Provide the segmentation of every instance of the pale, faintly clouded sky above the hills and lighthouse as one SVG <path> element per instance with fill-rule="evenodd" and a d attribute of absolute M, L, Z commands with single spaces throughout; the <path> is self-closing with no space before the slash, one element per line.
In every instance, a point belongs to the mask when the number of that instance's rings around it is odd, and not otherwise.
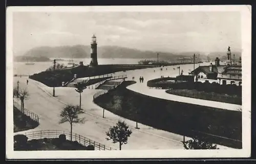
<path fill-rule="evenodd" d="M 241 50 L 239 12 L 14 12 L 13 50 L 36 46 L 117 45 L 149 51 Z"/>

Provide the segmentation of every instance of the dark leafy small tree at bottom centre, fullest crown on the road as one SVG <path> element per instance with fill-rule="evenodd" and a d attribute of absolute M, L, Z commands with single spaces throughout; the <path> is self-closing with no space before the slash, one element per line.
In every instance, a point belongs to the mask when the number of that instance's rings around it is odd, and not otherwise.
<path fill-rule="evenodd" d="M 112 139 L 114 144 L 119 143 L 119 150 L 121 150 L 121 146 L 127 144 L 127 139 L 132 134 L 132 130 L 128 128 L 129 126 L 127 126 L 124 121 L 121 122 L 119 120 L 116 126 L 111 127 L 110 130 L 106 132 L 108 136 L 106 140 Z"/>

